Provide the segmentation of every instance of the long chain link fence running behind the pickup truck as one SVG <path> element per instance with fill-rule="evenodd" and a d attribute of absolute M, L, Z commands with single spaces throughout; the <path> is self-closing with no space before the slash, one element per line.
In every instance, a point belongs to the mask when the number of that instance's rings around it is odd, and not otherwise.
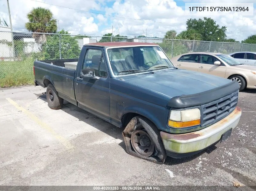
<path fill-rule="evenodd" d="M 84 44 L 97 42 L 156 43 L 169 58 L 189 52 L 256 52 L 256 44 L 244 43 L 0 31 L 0 87 L 32 84 L 35 60 L 77 59 Z"/>

